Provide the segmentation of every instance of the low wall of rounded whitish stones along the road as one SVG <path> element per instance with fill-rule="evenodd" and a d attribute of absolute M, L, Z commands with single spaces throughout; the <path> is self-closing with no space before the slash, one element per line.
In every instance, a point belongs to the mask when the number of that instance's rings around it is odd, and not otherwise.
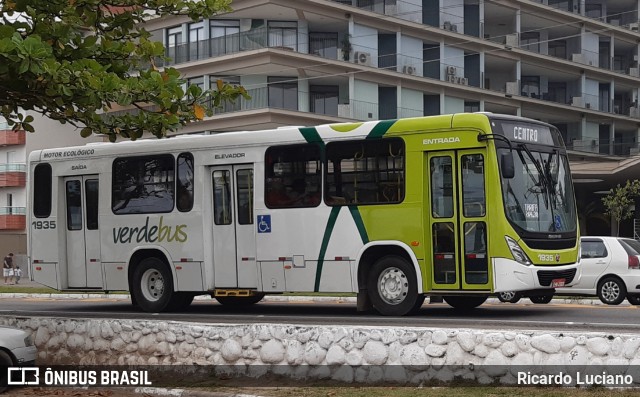
<path fill-rule="evenodd" d="M 39 365 L 251 364 L 260 368 L 253 375 L 286 367 L 307 379 L 400 383 L 514 383 L 512 366 L 640 368 L 640 335 L 630 334 L 10 316 L 0 324 L 35 334 Z"/>

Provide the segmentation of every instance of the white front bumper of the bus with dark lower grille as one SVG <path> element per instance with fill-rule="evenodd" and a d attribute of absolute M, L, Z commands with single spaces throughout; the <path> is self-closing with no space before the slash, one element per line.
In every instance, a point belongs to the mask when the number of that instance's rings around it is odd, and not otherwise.
<path fill-rule="evenodd" d="M 527 291 L 569 287 L 580 281 L 577 263 L 562 266 L 525 266 L 512 259 L 493 260 L 493 292 Z M 564 285 L 558 282 L 564 280 Z"/>

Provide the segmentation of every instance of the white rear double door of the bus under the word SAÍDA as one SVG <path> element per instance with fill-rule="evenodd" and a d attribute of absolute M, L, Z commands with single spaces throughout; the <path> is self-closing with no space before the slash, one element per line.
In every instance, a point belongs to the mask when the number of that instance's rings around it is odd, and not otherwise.
<path fill-rule="evenodd" d="M 64 178 L 69 288 L 101 288 L 98 176 Z"/>

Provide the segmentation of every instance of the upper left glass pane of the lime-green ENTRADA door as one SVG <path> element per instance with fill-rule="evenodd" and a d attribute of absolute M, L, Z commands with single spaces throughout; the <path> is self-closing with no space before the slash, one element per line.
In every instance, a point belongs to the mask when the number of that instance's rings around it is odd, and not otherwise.
<path fill-rule="evenodd" d="M 453 216 L 453 174 L 451 157 L 433 157 L 431 167 L 431 214 L 434 218 Z"/>

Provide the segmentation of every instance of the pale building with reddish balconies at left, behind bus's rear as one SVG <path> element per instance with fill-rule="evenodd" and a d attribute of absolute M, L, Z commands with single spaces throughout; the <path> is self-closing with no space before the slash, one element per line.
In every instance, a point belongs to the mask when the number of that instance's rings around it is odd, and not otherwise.
<path fill-rule="evenodd" d="M 4 257 L 13 252 L 18 264 L 26 264 L 29 153 L 102 140 L 99 137 L 84 139 L 78 130 L 36 114 L 33 116 L 33 133 L 13 131 L 4 120 L 0 122 L 0 255 Z"/>

